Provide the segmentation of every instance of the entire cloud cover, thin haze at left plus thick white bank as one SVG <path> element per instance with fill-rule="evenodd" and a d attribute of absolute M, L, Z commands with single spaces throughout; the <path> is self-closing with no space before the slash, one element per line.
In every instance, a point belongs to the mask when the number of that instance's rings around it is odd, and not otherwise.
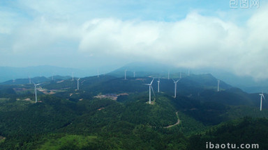
<path fill-rule="evenodd" d="M 246 24 L 237 24 L 226 19 L 226 15 L 223 19 L 195 11 L 172 21 L 144 19 L 140 17 L 142 12 L 151 15 L 147 8 L 134 11 L 140 11 L 139 17 L 126 19 L 124 15 L 114 15 L 119 12 L 108 5 L 91 2 L 77 1 L 72 7 L 70 1 L 21 1 L 18 5 L 29 13 L 19 22 L 14 20 L 20 14 L 0 12 L 8 24 L 0 23 L 0 40 L 3 40 L 0 52 L 3 47 L 5 53 L 8 49 L 15 54 L 58 51 L 64 58 L 62 47 L 72 47 L 71 53 L 83 53 L 92 59 L 103 56 L 117 60 L 154 60 L 177 67 L 220 67 L 239 75 L 268 78 L 267 6 L 256 10 Z M 131 3 L 137 5 L 135 1 Z M 128 4 L 120 4 L 120 9 L 125 6 Z M 87 11 L 90 8 L 93 10 Z M 99 8 L 108 8 L 112 15 Z M 135 16 L 129 11 L 126 14 Z"/>

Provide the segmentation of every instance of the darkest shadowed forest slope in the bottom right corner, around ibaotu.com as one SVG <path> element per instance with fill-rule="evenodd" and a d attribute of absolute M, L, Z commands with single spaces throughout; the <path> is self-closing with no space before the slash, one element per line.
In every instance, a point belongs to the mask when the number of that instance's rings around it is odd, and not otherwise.
<path fill-rule="evenodd" d="M 259 144 L 260 149 L 268 149 L 268 119 L 244 117 L 209 128 L 204 133 L 190 138 L 188 149 L 205 149 L 206 142 Z"/>

